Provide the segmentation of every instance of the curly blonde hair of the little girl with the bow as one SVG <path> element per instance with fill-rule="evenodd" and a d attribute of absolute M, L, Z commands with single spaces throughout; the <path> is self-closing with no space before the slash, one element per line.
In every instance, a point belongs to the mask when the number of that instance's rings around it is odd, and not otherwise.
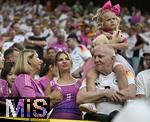
<path fill-rule="evenodd" d="M 112 12 L 111 10 L 102 10 L 102 8 L 97 9 L 96 14 L 93 16 L 93 20 L 96 20 L 97 22 L 97 30 L 102 31 L 103 30 L 103 22 L 104 22 L 104 14 L 107 12 Z M 119 29 L 120 25 L 120 18 L 116 15 L 116 19 L 118 21 L 118 27 L 116 29 Z"/>

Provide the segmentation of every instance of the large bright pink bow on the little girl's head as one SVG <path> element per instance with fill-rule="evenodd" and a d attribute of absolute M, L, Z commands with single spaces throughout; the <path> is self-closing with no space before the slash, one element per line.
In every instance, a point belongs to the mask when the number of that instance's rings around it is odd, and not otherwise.
<path fill-rule="evenodd" d="M 103 7 L 102 7 L 102 10 L 105 11 L 105 10 L 111 10 L 112 12 L 114 12 L 116 15 L 120 15 L 120 5 L 117 4 L 117 5 L 114 5 L 112 6 L 112 3 L 111 1 L 107 1 Z"/>

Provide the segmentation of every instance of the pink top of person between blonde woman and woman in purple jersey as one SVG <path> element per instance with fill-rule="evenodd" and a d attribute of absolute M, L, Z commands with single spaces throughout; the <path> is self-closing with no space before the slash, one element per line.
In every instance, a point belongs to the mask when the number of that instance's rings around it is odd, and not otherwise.
<path fill-rule="evenodd" d="M 50 80 L 47 78 L 47 76 L 43 76 L 39 79 L 39 86 L 43 92 L 45 91 L 49 82 L 50 82 Z"/>

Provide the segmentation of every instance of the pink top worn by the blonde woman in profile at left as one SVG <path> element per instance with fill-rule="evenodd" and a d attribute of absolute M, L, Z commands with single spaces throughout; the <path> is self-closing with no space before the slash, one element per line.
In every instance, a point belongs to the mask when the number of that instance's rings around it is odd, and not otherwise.
<path fill-rule="evenodd" d="M 14 97 L 44 97 L 44 93 L 37 82 L 28 74 L 20 74 L 12 86 Z M 23 106 L 23 102 L 20 103 Z"/>

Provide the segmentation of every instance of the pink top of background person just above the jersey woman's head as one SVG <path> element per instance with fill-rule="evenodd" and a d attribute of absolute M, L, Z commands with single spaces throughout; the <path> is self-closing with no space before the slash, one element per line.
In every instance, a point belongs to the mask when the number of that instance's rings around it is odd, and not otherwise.
<path fill-rule="evenodd" d="M 57 52 L 59 51 L 69 51 L 69 47 L 67 45 L 67 43 L 59 43 L 59 42 L 56 42 L 56 43 L 53 43 L 51 45 L 52 48 L 54 48 Z"/>

